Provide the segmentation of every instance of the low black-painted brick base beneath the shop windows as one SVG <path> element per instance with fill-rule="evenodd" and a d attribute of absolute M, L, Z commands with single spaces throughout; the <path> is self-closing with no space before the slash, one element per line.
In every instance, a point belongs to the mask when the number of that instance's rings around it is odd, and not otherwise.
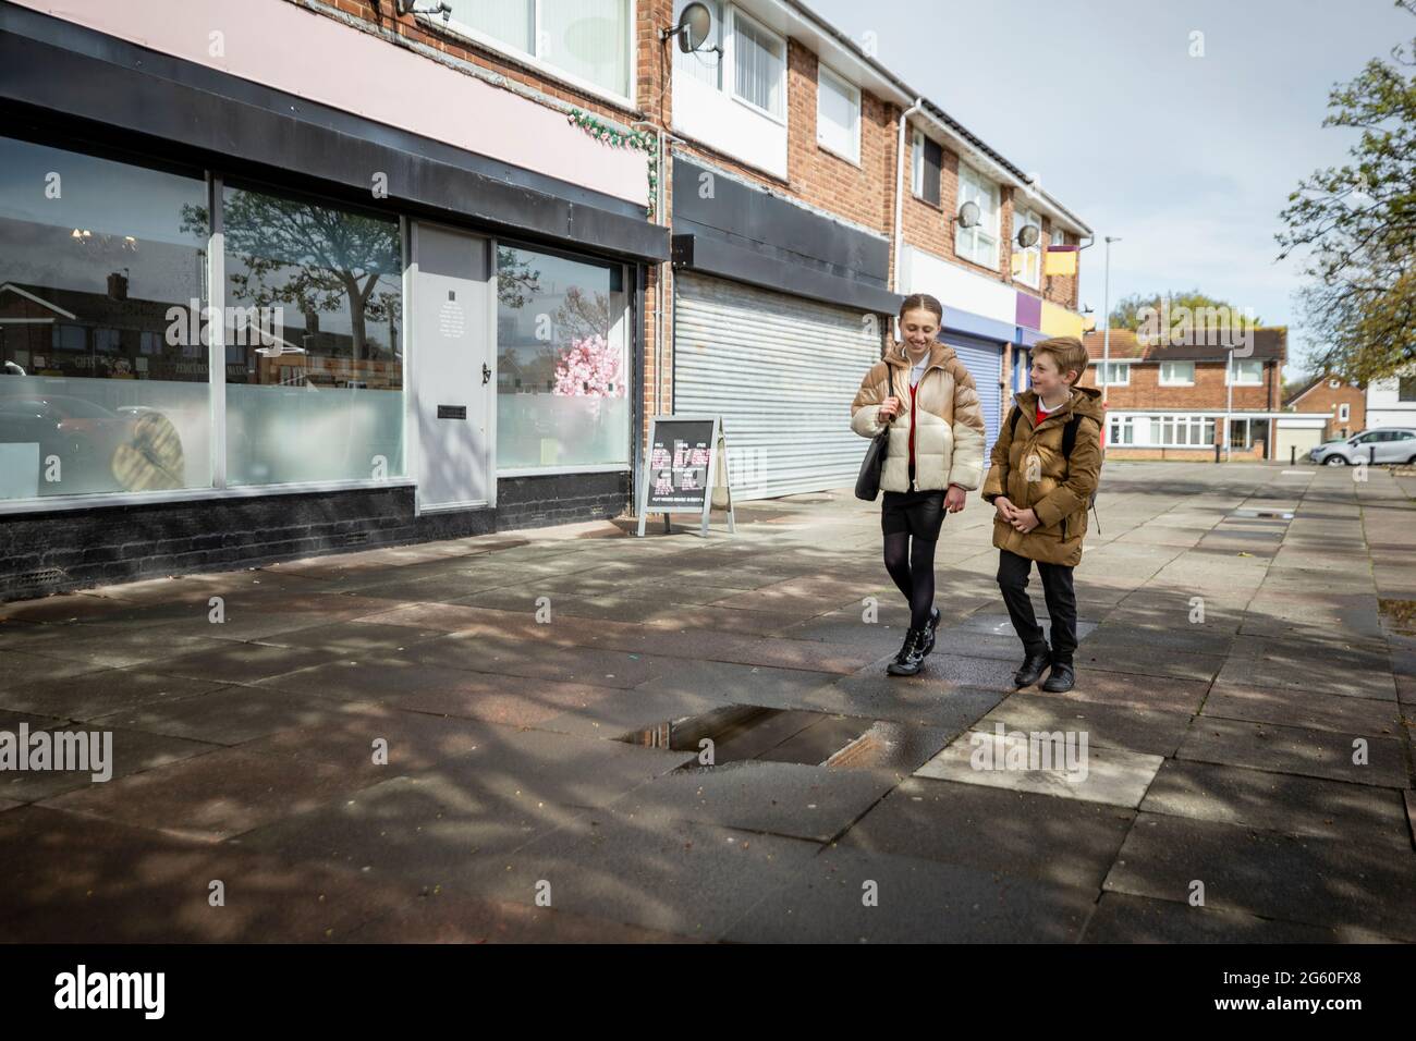
<path fill-rule="evenodd" d="M 11 516 L 0 524 L 0 602 L 142 578 L 610 520 L 630 500 L 630 474 L 504 477 L 497 497 L 494 510 L 422 517 L 413 516 L 411 486 Z"/>

